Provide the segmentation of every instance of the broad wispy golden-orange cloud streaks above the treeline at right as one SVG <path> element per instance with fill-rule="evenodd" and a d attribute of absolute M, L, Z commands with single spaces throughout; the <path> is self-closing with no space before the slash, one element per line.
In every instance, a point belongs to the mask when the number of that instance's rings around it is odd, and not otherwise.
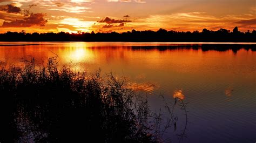
<path fill-rule="evenodd" d="M 256 27 L 255 14 L 214 16 L 201 11 L 172 13 L 170 15 L 150 15 L 145 18 L 137 18 L 136 21 L 129 25 L 136 30 L 158 30 L 159 28 L 164 28 L 176 31 L 200 31 L 204 28 L 209 30 L 218 30 L 220 28 L 232 30 L 234 26 L 239 26 L 241 31 L 247 31 Z"/>

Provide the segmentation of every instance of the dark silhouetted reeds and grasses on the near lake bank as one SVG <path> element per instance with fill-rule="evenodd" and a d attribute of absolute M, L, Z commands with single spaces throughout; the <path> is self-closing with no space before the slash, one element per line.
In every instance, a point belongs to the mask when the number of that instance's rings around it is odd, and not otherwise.
<path fill-rule="evenodd" d="M 0 70 L 1 142 L 163 142 L 163 132 L 177 128 L 174 107 L 186 115 L 184 101 L 166 103 L 169 114 L 160 129 L 160 113 L 124 80 L 59 70 L 56 63 L 50 58 L 36 67 L 32 59 L 22 69 Z M 185 130 L 176 133 L 180 139 Z"/>

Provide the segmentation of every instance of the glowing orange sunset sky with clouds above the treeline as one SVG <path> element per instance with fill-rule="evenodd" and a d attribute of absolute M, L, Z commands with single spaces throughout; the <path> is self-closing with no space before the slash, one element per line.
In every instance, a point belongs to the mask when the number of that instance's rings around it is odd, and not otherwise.
<path fill-rule="evenodd" d="M 255 0 L 0 0 L 0 32 L 256 30 Z"/>

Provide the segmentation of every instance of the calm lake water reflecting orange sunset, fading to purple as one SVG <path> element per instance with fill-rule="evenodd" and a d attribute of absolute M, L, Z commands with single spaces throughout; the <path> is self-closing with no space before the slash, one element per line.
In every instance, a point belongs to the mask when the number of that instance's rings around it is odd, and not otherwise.
<path fill-rule="evenodd" d="M 0 64 L 22 66 L 22 59 L 35 57 L 41 65 L 58 55 L 60 66 L 126 77 L 147 94 L 152 110 L 163 107 L 159 94 L 184 99 L 189 112 L 183 142 L 255 142 L 256 45 L 230 44 L 2 42 Z M 180 117 L 179 131 L 184 126 Z M 170 130 L 164 137 L 176 134 Z"/>

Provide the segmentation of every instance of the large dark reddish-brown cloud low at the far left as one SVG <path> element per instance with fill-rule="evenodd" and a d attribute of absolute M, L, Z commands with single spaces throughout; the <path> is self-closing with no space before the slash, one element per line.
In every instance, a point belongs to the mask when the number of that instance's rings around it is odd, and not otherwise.
<path fill-rule="evenodd" d="M 45 13 L 31 13 L 29 17 L 25 17 L 22 20 L 14 20 L 11 22 L 4 22 L 2 28 L 15 27 L 26 28 L 31 26 L 45 26 L 47 19 L 44 18 Z"/>

